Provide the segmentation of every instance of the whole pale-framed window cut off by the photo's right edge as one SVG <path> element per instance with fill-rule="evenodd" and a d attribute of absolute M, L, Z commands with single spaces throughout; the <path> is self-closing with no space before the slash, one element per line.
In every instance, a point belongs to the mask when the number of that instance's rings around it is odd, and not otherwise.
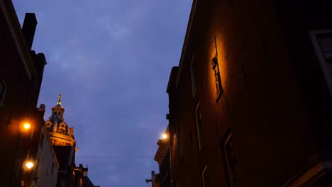
<path fill-rule="evenodd" d="M 332 29 L 311 31 L 310 37 L 332 95 Z"/>

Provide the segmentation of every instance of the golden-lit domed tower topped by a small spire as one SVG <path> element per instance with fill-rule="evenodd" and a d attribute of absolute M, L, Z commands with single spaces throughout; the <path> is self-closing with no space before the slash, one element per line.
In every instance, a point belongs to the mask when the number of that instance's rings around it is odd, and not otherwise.
<path fill-rule="evenodd" d="M 63 118 L 65 108 L 61 106 L 61 94 L 58 98 L 57 105 L 52 108 L 52 115 L 45 125 L 53 146 L 74 146 L 76 145 L 74 128 L 70 128 L 65 123 L 65 118 Z"/>

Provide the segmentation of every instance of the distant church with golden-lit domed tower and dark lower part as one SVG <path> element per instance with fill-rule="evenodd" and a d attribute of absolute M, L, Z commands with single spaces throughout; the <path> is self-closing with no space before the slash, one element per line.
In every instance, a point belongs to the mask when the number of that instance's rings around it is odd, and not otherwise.
<path fill-rule="evenodd" d="M 93 183 L 87 176 L 88 168 L 82 164 L 75 165 L 75 152 L 77 151 L 74 138 L 74 128 L 65 122 L 61 94 L 58 96 L 57 105 L 52 108 L 50 119 L 45 122 L 52 147 L 55 150 L 59 170 L 57 173 L 57 187 L 84 187 Z"/>

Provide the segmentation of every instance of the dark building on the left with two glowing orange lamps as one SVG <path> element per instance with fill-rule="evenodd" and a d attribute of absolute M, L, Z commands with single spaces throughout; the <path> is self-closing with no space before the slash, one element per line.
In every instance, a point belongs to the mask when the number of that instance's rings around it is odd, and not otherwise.
<path fill-rule="evenodd" d="M 31 143 L 40 135 L 36 106 L 46 64 L 43 53 L 31 50 L 36 26 L 35 14 L 26 13 L 21 28 L 11 1 L 0 1 L 0 186 L 23 186 L 33 172 L 23 165 L 35 159 Z"/>

